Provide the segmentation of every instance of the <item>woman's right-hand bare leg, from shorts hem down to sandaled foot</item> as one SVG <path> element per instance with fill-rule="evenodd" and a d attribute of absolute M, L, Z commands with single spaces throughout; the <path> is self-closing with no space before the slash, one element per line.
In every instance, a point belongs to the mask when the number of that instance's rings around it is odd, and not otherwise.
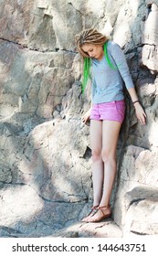
<path fill-rule="evenodd" d="M 121 129 L 121 123 L 112 121 L 103 121 L 102 127 L 102 152 L 101 157 L 104 163 L 104 180 L 103 194 L 100 199 L 100 207 L 103 208 L 104 214 L 110 214 L 109 208 L 111 190 L 116 175 L 116 147 Z M 90 217 L 88 221 L 97 221 L 102 217 L 102 211 L 99 209 L 97 213 Z"/>

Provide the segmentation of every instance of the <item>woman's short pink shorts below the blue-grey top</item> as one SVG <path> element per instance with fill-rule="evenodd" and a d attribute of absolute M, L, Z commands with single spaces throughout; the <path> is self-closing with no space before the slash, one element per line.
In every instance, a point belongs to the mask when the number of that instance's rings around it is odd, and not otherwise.
<path fill-rule="evenodd" d="M 125 102 L 123 100 L 93 104 L 90 119 L 109 120 L 122 123 L 124 120 L 124 113 Z"/>

